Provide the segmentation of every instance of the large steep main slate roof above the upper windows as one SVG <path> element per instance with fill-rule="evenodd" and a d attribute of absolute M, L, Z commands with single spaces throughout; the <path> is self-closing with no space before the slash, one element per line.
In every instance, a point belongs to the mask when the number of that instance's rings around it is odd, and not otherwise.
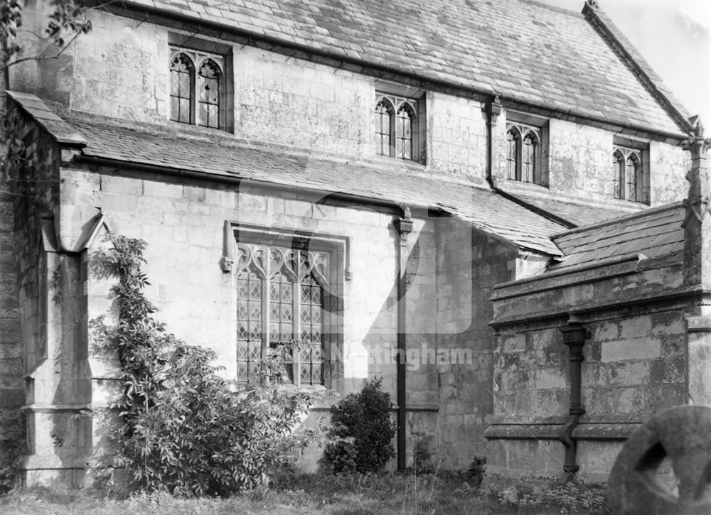
<path fill-rule="evenodd" d="M 590 6 L 592 16 L 600 14 L 596 19 L 605 39 L 581 13 L 530 0 L 124 0 L 122 5 L 227 24 L 335 59 L 387 66 L 559 112 L 685 132 L 669 113 L 676 110 L 683 119 L 688 113 L 673 99 L 670 111 L 661 107 L 637 75 L 668 94 L 661 80 L 609 18 Z M 629 47 L 637 70 L 619 58 L 620 49 L 609 44 L 613 40 Z"/>

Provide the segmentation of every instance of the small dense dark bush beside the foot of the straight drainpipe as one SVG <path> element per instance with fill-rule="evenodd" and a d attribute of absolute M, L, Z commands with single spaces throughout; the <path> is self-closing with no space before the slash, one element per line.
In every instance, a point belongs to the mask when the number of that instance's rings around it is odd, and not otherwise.
<path fill-rule="evenodd" d="M 390 422 L 390 394 L 382 379 L 366 380 L 357 394 L 346 396 L 331 411 L 330 440 L 323 462 L 333 472 L 377 472 L 395 456 Z"/>

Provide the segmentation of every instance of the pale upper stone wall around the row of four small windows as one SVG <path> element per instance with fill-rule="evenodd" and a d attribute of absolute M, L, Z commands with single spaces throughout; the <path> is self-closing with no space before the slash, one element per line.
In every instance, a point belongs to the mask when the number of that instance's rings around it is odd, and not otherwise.
<path fill-rule="evenodd" d="M 92 33 L 78 38 L 73 52 L 58 60 L 23 63 L 14 70 L 11 87 L 77 112 L 209 134 L 209 130 L 168 121 L 169 42 L 187 41 L 183 46 L 189 47 L 191 41 L 196 45 L 199 40 L 225 55 L 228 86 L 234 90 L 228 98 L 230 125 L 236 137 L 340 156 L 376 157 L 375 90 L 387 91 L 389 86 L 375 77 L 102 11 L 93 11 L 91 16 Z M 31 11 L 27 18 L 28 26 L 43 23 Z M 390 87 L 394 92 L 403 88 Z M 427 126 L 427 167 L 407 165 L 418 173 L 483 183 L 487 149 L 481 100 L 451 91 L 405 90 L 425 98 Z M 630 202 L 612 199 L 613 131 L 559 119 L 551 119 L 547 131 L 550 188 L 546 191 L 619 203 L 622 210 L 629 207 Z M 496 121 L 493 134 L 493 175 L 505 183 L 506 112 Z M 652 204 L 678 200 L 687 162 L 683 151 L 653 141 L 650 156 Z"/>

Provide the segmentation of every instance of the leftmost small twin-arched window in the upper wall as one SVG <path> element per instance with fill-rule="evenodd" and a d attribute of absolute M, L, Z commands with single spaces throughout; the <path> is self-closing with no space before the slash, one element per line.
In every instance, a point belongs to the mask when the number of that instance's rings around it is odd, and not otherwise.
<path fill-rule="evenodd" d="M 170 119 L 225 128 L 224 59 L 198 50 L 171 48 Z"/>

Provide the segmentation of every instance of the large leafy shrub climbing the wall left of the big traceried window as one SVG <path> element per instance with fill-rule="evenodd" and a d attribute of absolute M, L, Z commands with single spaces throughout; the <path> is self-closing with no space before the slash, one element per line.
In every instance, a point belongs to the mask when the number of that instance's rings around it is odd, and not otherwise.
<path fill-rule="evenodd" d="M 116 275 L 118 322 L 92 322 L 97 344 L 118 352 L 123 392 L 113 438 L 119 464 L 140 487 L 173 494 L 225 496 L 263 486 L 313 437 L 293 429 L 311 402 L 300 391 L 278 388 L 283 359 L 266 360 L 262 381 L 235 393 L 211 364 L 215 352 L 187 345 L 152 318 L 143 290 L 145 242 L 112 239 L 97 255 L 95 272 Z"/>

